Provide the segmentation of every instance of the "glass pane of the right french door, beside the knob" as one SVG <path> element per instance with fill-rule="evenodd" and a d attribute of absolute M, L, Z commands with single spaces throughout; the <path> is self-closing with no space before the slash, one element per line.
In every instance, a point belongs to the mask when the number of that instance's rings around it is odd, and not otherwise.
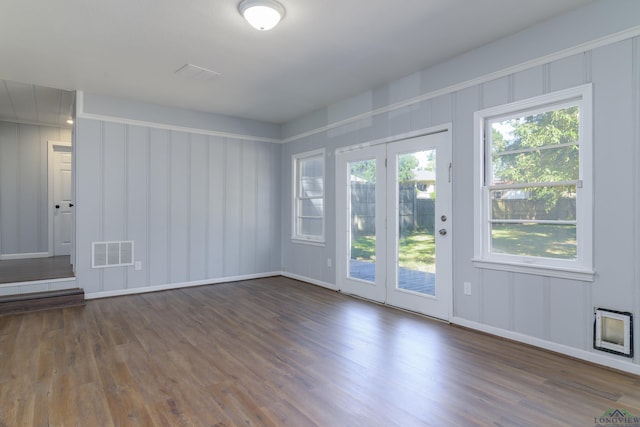
<path fill-rule="evenodd" d="M 397 158 L 399 289 L 435 296 L 436 150 Z"/>

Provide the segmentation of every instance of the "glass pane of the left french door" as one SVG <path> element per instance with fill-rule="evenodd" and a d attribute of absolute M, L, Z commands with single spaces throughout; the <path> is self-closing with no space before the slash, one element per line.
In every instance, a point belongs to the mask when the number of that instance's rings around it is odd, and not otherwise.
<path fill-rule="evenodd" d="M 349 277 L 376 280 L 376 161 L 349 163 Z"/>

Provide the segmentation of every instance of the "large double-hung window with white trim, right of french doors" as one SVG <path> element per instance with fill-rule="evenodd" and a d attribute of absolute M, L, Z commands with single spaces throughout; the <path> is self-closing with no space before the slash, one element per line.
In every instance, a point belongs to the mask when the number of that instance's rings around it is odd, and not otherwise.
<path fill-rule="evenodd" d="M 476 265 L 593 280 L 591 86 L 475 121 Z"/>

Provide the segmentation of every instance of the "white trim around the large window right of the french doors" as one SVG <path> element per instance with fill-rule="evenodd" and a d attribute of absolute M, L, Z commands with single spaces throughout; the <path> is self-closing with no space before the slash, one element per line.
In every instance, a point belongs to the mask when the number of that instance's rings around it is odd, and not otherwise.
<path fill-rule="evenodd" d="M 485 186 L 485 124 L 488 119 L 511 113 L 529 112 L 544 106 L 577 101 L 580 107 L 579 181 L 582 182 L 576 223 L 576 260 L 490 253 L 489 218 L 491 204 Z M 474 113 L 474 266 L 492 270 L 537 274 L 558 278 L 593 281 L 593 96 L 592 85 L 582 85 L 550 94 L 512 102 Z"/>

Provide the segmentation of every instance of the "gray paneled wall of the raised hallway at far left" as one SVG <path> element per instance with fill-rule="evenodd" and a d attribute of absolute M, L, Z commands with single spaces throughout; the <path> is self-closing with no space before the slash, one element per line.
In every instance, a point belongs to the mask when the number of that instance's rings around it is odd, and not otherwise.
<path fill-rule="evenodd" d="M 0 122 L 0 255 L 49 250 L 47 141 L 71 129 Z"/>

